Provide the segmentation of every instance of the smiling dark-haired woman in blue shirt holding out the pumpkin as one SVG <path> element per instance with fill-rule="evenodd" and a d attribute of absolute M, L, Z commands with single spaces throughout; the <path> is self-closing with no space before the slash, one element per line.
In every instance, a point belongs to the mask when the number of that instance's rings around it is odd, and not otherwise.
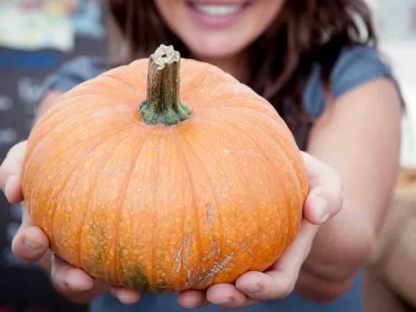
<path fill-rule="evenodd" d="M 310 154 L 304 159 L 311 192 L 293 246 L 268 272 L 247 272 L 235 284 L 207 292 L 184 291 L 179 304 L 213 303 L 209 311 L 256 302 L 252 309 L 261 311 L 358 311 L 356 272 L 369 257 L 388 207 L 400 128 L 397 87 L 376 51 L 363 1 L 111 0 L 110 8 L 121 39 L 113 43 L 121 46 L 116 62 L 148 57 L 160 43 L 173 44 L 182 57 L 211 62 L 266 97 Z M 62 92 L 105 69 L 85 58 L 64 65 L 49 79 L 38 116 Z M 9 177 L 6 194 L 12 202 L 21 199 L 16 176 L 24 148 L 25 143 L 10 150 L 0 168 L 0 187 Z M 343 181 L 343 209 L 333 218 L 342 202 L 340 182 L 311 155 Z M 44 233 L 24 214 L 13 241 L 16 256 L 34 261 L 47 248 Z M 61 259 L 53 257 L 52 263 L 53 284 L 73 300 L 88 302 L 105 290 Z M 125 288 L 111 292 L 123 303 L 140 298 Z M 315 303 L 336 298 L 325 306 Z M 138 306 L 121 306 L 104 295 L 92 310 L 179 311 L 170 304 L 175 300 L 175 295 L 145 294 Z"/>

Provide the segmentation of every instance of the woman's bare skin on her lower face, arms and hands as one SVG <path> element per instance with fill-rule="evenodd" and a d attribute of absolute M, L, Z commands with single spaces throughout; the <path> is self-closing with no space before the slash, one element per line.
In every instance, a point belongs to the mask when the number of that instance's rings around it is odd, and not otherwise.
<path fill-rule="evenodd" d="M 241 51 L 270 25 L 284 1 L 193 1 L 198 3 L 234 6 L 249 3 L 232 23 L 221 24 L 215 17 L 209 21 L 195 17 L 189 1 L 155 0 L 162 18 L 184 41 L 193 58 L 216 64 L 244 80 L 244 69 L 239 67 Z M 39 116 L 53 105 L 59 94 L 53 91 L 46 95 Z M 399 95 L 387 78 L 376 78 L 328 101 L 311 129 L 306 148 L 310 155 L 304 154 L 311 192 L 304 205 L 302 230 L 293 246 L 266 273 L 248 272 L 235 284 L 214 285 L 206 293 L 184 291 L 178 302 L 185 307 L 211 302 L 238 308 L 257 300 L 281 299 L 293 288 L 318 302 L 329 302 L 345 293 L 352 285 L 356 270 L 369 257 L 388 207 L 398 168 L 399 124 Z M 1 189 L 13 174 L 6 192 L 11 202 L 21 200 L 17 177 L 24 148 L 21 144 L 11 150 L 0 167 Z M 343 209 L 337 214 L 341 205 Z M 37 241 L 40 249 L 25 248 L 24 241 L 29 238 Z M 26 262 L 40 259 L 49 245 L 45 238 L 24 215 L 24 223 L 13 241 L 13 251 Z M 47 254 L 43 257 L 46 267 L 48 257 Z M 53 261 L 51 279 L 58 290 L 78 302 L 87 302 L 105 289 L 103 284 L 94 282 L 85 272 L 71 268 L 61 259 Z M 124 303 L 135 302 L 140 297 L 139 293 L 125 288 L 111 291 Z"/>

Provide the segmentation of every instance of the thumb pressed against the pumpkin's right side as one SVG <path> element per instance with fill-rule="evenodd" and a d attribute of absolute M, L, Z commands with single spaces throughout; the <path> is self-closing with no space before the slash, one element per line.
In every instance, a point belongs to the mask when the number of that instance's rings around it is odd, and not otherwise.
<path fill-rule="evenodd" d="M 319 225 L 343 207 L 343 185 L 336 171 L 308 153 L 303 153 L 309 180 L 309 194 L 304 203 L 304 218 Z"/>

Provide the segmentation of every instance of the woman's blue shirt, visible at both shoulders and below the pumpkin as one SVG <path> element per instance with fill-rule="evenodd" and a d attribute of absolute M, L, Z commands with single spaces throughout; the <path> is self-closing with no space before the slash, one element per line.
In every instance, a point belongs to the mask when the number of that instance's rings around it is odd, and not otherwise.
<path fill-rule="evenodd" d="M 107 70 L 105 62 L 99 58 L 76 58 L 63 64 L 56 73 L 50 76 L 46 80 L 46 87 L 66 92 L 79 83 L 94 78 L 105 70 Z M 324 87 L 320 82 L 320 70 L 320 66 L 315 64 L 302 94 L 306 114 L 311 120 L 322 114 L 325 105 Z M 379 53 L 375 49 L 369 46 L 345 48 L 340 53 L 331 71 L 330 83 L 333 98 L 336 99 L 345 94 L 345 92 L 380 77 L 388 77 L 394 81 L 390 67 L 381 60 Z M 171 295 L 144 293 L 140 302 L 131 306 L 124 306 L 111 295 L 105 294 L 94 300 L 90 309 L 94 312 L 189 311 L 189 309 L 182 309 L 177 304 L 177 294 L 175 293 Z M 198 309 L 198 311 L 214 312 L 226 310 L 211 304 L 203 309 Z M 238 311 L 361 311 L 361 274 L 358 273 L 352 289 L 331 304 L 317 304 L 297 295 L 297 293 L 292 293 L 285 300 L 263 301 Z"/>

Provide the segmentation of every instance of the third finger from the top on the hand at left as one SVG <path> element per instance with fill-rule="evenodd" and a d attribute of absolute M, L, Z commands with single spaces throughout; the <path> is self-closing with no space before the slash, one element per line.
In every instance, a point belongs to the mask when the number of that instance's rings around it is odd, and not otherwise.
<path fill-rule="evenodd" d="M 94 279 L 86 272 L 74 268 L 55 254 L 51 258 L 51 279 L 63 291 L 89 291 L 94 286 Z"/>

